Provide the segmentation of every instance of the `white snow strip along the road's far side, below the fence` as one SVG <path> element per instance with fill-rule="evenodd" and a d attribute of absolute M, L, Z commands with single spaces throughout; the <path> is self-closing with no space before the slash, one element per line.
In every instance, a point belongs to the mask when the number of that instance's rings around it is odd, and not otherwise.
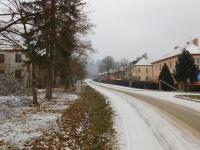
<path fill-rule="evenodd" d="M 175 97 L 176 95 L 179 95 L 179 94 L 200 95 L 199 93 L 163 92 L 163 91 L 153 91 L 153 90 L 129 88 L 129 87 L 123 87 L 123 86 L 111 85 L 111 84 L 103 84 L 103 83 L 97 83 L 97 82 L 93 82 L 93 83 L 97 84 L 97 85 L 102 85 L 105 87 L 112 87 L 112 88 L 120 89 L 123 91 L 129 91 L 129 92 L 133 92 L 136 94 L 142 94 L 142 95 L 159 98 L 160 100 L 170 101 L 170 102 L 173 102 L 173 103 L 179 104 L 181 106 L 184 106 L 184 107 L 187 107 L 187 108 L 190 108 L 190 109 L 200 112 L 200 103 Z"/>

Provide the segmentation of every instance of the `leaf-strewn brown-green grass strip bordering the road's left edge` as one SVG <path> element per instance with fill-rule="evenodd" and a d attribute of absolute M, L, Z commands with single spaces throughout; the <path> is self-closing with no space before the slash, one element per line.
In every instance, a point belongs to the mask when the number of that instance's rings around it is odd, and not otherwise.
<path fill-rule="evenodd" d="M 104 96 L 86 86 L 78 102 L 63 115 L 72 149 L 112 149 L 114 145 L 113 112 Z"/>

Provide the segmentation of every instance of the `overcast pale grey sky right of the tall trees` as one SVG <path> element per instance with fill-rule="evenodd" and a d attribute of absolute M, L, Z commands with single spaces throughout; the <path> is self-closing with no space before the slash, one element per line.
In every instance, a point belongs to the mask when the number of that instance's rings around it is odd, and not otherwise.
<path fill-rule="evenodd" d="M 159 57 L 200 37 L 200 0 L 88 0 L 95 55 Z"/>

